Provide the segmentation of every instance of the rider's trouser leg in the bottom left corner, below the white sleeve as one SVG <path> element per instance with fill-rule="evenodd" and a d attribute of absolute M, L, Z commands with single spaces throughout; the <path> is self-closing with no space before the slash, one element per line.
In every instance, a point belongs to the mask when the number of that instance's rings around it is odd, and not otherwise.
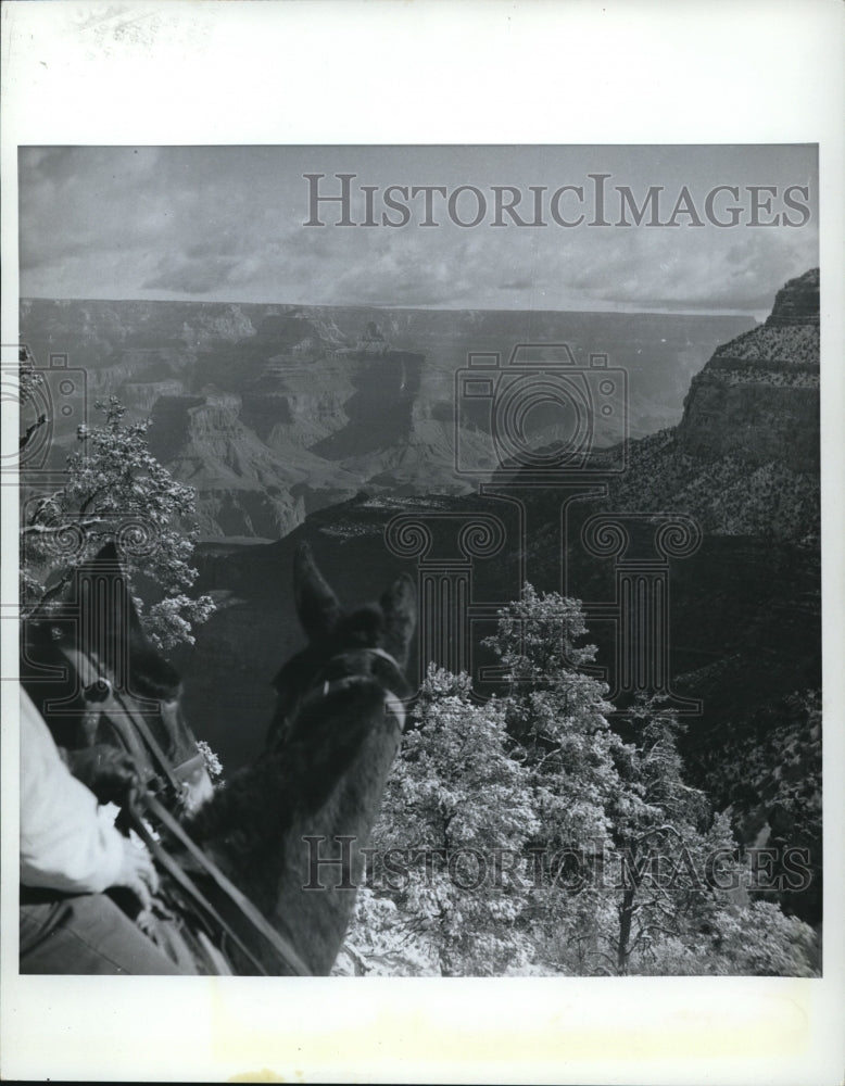
<path fill-rule="evenodd" d="M 22 973 L 196 973 L 160 950 L 105 894 L 22 896 Z"/>

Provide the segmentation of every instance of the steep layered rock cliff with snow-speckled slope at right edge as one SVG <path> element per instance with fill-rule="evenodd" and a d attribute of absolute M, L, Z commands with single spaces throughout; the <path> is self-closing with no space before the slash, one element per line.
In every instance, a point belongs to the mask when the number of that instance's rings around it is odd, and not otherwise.
<path fill-rule="evenodd" d="M 721 535 L 818 539 L 818 269 L 778 292 L 764 325 L 717 348 L 679 425 L 629 454 L 616 509 L 685 512 Z"/>

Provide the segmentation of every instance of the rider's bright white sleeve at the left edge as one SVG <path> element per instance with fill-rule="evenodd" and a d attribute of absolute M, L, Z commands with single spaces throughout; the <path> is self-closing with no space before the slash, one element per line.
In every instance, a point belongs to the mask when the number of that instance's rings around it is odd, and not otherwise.
<path fill-rule="evenodd" d="M 45 721 L 21 691 L 21 882 L 70 893 L 114 885 L 123 837 L 71 774 Z"/>

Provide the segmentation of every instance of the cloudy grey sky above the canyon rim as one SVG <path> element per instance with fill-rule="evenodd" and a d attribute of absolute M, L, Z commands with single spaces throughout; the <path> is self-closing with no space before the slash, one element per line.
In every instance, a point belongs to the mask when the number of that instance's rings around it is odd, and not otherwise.
<path fill-rule="evenodd" d="M 20 152 L 22 296 L 138 298 L 196 301 L 378 304 L 550 310 L 740 311 L 765 315 L 789 278 L 818 264 L 816 149 L 758 147 L 76 147 Z M 337 174 L 354 174 L 353 215 L 365 219 L 360 186 L 374 186 L 375 217 L 390 185 L 479 189 L 489 203 L 472 227 L 450 220 L 434 195 L 439 225 L 426 228 L 424 197 L 408 200 L 401 228 L 307 227 L 310 184 L 340 191 Z M 590 226 L 590 174 L 607 174 L 605 216 L 618 218 L 617 187 L 642 203 L 661 186 L 658 219 L 671 217 L 686 186 L 703 226 L 680 215 L 674 227 Z M 547 200 L 560 186 L 582 186 L 560 203 L 563 228 Z M 716 186 L 740 188 L 736 226 L 704 213 Z M 495 227 L 493 186 L 514 186 L 518 213 L 531 219 L 530 186 L 545 186 L 547 226 Z M 777 191 L 761 219 L 787 211 L 790 186 L 809 187 L 800 226 L 747 225 L 748 186 Z M 797 199 L 802 199 L 798 197 Z M 716 202 L 724 216 L 730 197 Z M 478 203 L 464 193 L 456 215 L 471 220 Z M 394 217 L 396 213 L 391 213 Z M 507 216 L 504 216 L 507 218 Z M 629 216 L 630 217 L 630 216 Z M 509 220 L 509 219 L 508 219 Z M 644 222 L 647 222 L 647 216 Z"/>

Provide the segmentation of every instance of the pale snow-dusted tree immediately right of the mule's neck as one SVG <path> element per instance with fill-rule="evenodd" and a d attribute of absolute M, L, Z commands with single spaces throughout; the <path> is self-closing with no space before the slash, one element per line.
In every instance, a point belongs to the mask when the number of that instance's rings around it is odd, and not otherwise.
<path fill-rule="evenodd" d="M 429 670 L 371 843 L 376 892 L 395 905 L 394 952 L 442 975 L 499 974 L 531 951 L 517 925 L 537 829 L 526 770 L 508 755 L 503 707 L 470 694 L 467 675 Z"/>

